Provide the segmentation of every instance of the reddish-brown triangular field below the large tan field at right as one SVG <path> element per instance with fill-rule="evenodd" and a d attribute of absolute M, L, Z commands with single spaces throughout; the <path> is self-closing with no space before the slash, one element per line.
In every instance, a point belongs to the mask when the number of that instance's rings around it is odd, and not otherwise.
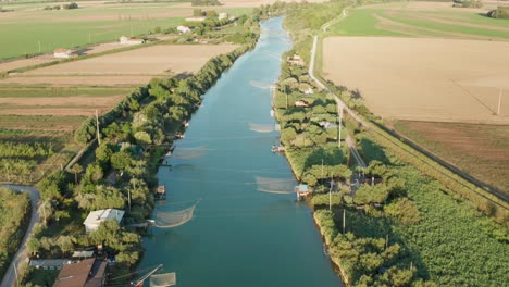
<path fill-rule="evenodd" d="M 509 126 L 398 121 L 394 128 L 509 195 Z"/>

